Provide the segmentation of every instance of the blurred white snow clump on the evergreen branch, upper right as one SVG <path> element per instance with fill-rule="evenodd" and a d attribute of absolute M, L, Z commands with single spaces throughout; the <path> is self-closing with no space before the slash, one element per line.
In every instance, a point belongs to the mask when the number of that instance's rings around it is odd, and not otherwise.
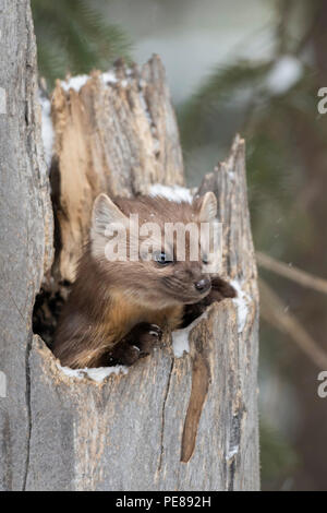
<path fill-rule="evenodd" d="M 268 73 L 265 86 L 271 94 L 283 94 L 296 84 L 302 74 L 303 68 L 299 59 L 283 56 Z"/>

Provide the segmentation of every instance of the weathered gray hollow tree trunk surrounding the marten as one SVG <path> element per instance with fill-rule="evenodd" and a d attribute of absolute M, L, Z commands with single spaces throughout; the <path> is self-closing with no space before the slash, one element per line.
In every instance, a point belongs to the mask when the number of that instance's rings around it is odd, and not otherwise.
<path fill-rule="evenodd" d="M 3 5 L 1 288 L 7 300 L 0 370 L 8 391 L 7 398 L 0 395 L 1 489 L 258 489 L 258 299 L 244 142 L 235 139 L 229 159 L 199 188 L 217 194 L 223 275 L 233 281 L 238 298 L 213 305 L 173 339 L 166 334 L 164 347 L 128 373 L 100 379 L 108 369 L 63 371 L 32 333 L 43 276 L 45 289 L 74 278 L 99 191 L 132 195 L 155 182 L 182 184 L 181 148 L 157 57 L 142 70 L 119 63 L 109 74 L 94 73 L 78 91 L 58 83 L 51 167 L 56 260 L 49 271 L 49 179 L 31 12 L 27 1 Z"/>

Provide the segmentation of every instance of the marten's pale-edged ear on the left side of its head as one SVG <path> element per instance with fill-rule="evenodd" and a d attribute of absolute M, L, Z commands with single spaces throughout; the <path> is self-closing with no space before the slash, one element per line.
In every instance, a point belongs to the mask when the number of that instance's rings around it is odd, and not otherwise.
<path fill-rule="evenodd" d="M 104 192 L 99 194 L 93 205 L 92 228 L 97 234 L 106 235 L 106 229 L 111 223 L 126 224 L 129 218 Z"/>

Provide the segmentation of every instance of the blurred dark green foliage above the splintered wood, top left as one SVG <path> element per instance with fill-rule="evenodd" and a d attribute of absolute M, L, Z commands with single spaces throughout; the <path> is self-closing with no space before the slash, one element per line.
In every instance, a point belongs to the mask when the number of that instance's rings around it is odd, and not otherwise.
<path fill-rule="evenodd" d="M 108 69 L 129 60 L 125 34 L 108 24 L 92 0 L 32 0 L 39 73 L 50 86 L 66 73 Z"/>

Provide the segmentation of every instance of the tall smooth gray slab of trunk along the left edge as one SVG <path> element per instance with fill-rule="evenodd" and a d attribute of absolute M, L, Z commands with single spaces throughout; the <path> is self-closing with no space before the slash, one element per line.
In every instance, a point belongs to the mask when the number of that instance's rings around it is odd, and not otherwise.
<path fill-rule="evenodd" d="M 49 180 L 40 142 L 35 38 L 29 2 L 0 8 L 0 489 L 25 486 L 31 436 L 32 309 L 52 255 Z"/>

